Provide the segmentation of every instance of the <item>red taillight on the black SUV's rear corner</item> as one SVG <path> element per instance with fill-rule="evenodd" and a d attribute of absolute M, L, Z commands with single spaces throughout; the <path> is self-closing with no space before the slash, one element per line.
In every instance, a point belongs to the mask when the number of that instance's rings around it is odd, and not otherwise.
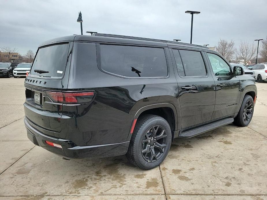
<path fill-rule="evenodd" d="M 81 93 L 59 93 L 59 92 L 47 92 L 51 100 L 55 103 L 89 103 L 92 101 L 95 92 L 81 92 Z"/>

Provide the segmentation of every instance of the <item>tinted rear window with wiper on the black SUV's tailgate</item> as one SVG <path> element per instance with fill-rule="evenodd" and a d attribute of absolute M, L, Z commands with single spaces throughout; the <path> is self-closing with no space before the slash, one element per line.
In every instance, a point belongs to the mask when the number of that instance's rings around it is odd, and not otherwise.
<path fill-rule="evenodd" d="M 69 44 L 40 48 L 34 59 L 30 74 L 44 77 L 62 77 L 66 68 L 68 49 Z M 34 70 L 43 70 L 46 73 L 37 73 Z"/>

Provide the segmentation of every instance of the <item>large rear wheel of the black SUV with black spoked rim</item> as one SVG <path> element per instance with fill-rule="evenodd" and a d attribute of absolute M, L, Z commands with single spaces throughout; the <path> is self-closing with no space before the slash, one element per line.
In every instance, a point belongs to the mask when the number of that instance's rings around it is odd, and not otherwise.
<path fill-rule="evenodd" d="M 126 157 L 133 165 L 148 170 L 163 162 L 170 146 L 171 128 L 168 122 L 157 115 L 144 115 L 137 120 Z"/>

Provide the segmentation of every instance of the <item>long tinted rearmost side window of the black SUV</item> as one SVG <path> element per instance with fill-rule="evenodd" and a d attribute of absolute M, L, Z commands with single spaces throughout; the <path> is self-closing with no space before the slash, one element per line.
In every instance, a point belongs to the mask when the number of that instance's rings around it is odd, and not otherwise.
<path fill-rule="evenodd" d="M 127 77 L 167 76 L 163 48 L 100 45 L 103 70 Z"/>

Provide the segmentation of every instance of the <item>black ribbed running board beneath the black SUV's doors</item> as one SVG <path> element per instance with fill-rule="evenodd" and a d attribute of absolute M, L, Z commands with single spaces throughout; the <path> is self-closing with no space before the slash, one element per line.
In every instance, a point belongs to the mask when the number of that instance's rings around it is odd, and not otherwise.
<path fill-rule="evenodd" d="M 201 133 L 205 133 L 207 131 L 211 131 L 211 130 L 216 129 L 218 127 L 221 127 L 221 126 L 224 126 L 224 125 L 227 125 L 227 124 L 231 124 L 233 121 L 234 121 L 234 118 L 231 117 L 231 118 L 226 118 L 226 119 L 223 119 L 223 120 L 220 120 L 220 121 L 216 121 L 216 122 L 213 122 L 211 124 L 207 124 L 207 125 L 195 128 L 195 129 L 191 129 L 191 130 L 188 130 L 188 131 L 184 131 L 184 132 L 181 131 L 179 137 L 180 138 L 193 137 L 193 136 L 199 135 Z"/>

